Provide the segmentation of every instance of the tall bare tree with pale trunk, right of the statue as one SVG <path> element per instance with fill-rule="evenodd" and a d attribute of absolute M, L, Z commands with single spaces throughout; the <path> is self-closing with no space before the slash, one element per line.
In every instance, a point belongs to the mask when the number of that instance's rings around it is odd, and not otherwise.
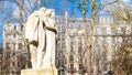
<path fill-rule="evenodd" d="M 74 1 L 74 0 L 72 0 Z M 91 75 L 91 73 L 94 72 L 94 67 L 91 66 L 94 64 L 94 41 L 95 41 L 95 34 L 94 34 L 94 30 L 95 30 L 95 25 L 96 23 L 96 18 L 97 14 L 103 10 L 103 8 L 106 8 L 107 6 L 113 4 L 116 2 L 118 2 L 119 0 L 114 0 L 111 1 L 107 4 L 101 4 L 101 2 L 97 1 L 97 0 L 78 0 L 78 1 L 74 1 L 77 4 L 77 8 L 80 10 L 81 15 L 82 15 L 82 26 L 84 26 L 84 33 L 85 33 L 85 41 L 86 41 L 86 52 L 87 52 L 87 61 L 86 61 L 86 65 L 87 66 L 87 74 Z M 87 8 L 89 7 L 89 8 Z M 89 14 L 89 22 L 90 22 L 90 32 L 87 33 L 87 25 L 86 25 L 86 18 L 87 14 Z"/>

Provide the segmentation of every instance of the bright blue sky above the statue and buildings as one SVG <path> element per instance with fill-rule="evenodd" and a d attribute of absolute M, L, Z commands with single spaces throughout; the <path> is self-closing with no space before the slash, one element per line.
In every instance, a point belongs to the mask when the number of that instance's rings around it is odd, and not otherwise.
<path fill-rule="evenodd" d="M 0 0 L 0 2 L 2 2 L 2 1 L 3 0 Z M 25 1 L 28 1 L 28 0 L 25 0 Z M 48 0 L 46 0 L 45 7 L 46 8 L 54 8 L 55 11 L 56 11 L 56 15 L 64 14 L 65 11 L 68 11 L 69 17 L 80 18 L 81 13 L 80 13 L 80 10 L 77 8 L 77 4 L 75 4 L 73 2 L 69 2 L 69 1 L 74 1 L 74 0 L 52 0 L 52 2 L 48 2 Z M 76 0 L 76 1 L 78 1 L 78 0 Z M 98 2 L 100 0 L 98 0 Z M 129 2 L 132 3 L 132 0 L 123 0 L 123 1 L 128 2 L 128 3 Z M 38 9 L 38 7 L 34 7 L 34 9 L 36 10 L 36 9 Z M 89 6 L 87 6 L 87 9 L 89 10 Z M 16 6 L 13 2 L 13 0 L 7 0 L 2 8 L 1 8 L 1 4 L 0 4 L 0 44 L 2 43 L 3 21 L 10 19 L 10 17 L 12 17 L 12 14 L 18 14 Z M 89 14 L 87 14 L 87 17 L 89 17 Z"/>

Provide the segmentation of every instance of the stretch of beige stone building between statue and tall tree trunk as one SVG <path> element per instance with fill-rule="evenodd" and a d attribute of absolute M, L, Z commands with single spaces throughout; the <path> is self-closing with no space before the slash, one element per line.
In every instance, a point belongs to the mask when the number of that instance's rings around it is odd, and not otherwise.
<path fill-rule="evenodd" d="M 87 20 L 88 21 L 88 20 Z M 57 29 L 57 63 L 62 75 L 81 74 L 85 71 L 85 58 L 82 58 L 82 50 L 85 50 L 82 26 L 80 18 L 68 18 L 68 13 L 64 17 L 56 17 Z M 89 22 L 87 22 L 88 24 Z"/>

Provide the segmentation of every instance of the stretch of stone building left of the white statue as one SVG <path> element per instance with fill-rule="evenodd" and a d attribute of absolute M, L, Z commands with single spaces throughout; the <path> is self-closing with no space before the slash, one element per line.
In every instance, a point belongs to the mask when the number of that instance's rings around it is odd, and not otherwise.
<path fill-rule="evenodd" d="M 18 75 L 23 68 L 23 25 L 3 25 L 2 73 Z"/>

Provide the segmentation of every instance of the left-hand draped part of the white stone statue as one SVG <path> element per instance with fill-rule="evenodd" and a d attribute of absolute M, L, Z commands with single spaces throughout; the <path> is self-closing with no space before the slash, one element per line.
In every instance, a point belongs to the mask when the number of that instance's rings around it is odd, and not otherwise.
<path fill-rule="evenodd" d="M 28 18 L 28 22 L 25 24 L 25 39 L 28 40 L 30 53 L 31 53 L 31 62 L 32 67 L 36 68 L 36 46 L 31 44 L 32 41 L 37 41 L 37 29 L 36 25 L 38 24 L 38 13 L 35 11 Z"/>

